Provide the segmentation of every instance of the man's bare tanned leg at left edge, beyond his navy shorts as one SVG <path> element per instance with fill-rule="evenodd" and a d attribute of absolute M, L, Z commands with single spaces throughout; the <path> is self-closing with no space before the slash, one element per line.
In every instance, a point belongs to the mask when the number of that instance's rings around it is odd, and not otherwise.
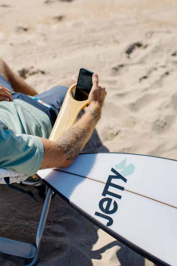
<path fill-rule="evenodd" d="M 15 92 L 24 93 L 27 95 L 34 96 L 37 94 L 30 85 L 28 85 L 24 80 L 15 74 L 8 65 L 0 58 L 0 74 L 3 76 L 8 82 L 11 83 L 12 88 Z"/>

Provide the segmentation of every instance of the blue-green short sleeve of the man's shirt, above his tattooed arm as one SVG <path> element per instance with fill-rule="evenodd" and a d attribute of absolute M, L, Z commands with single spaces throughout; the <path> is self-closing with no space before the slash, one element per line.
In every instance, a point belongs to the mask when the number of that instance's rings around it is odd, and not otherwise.
<path fill-rule="evenodd" d="M 44 147 L 37 136 L 15 134 L 4 123 L 0 123 L 0 167 L 34 175 L 40 168 Z"/>

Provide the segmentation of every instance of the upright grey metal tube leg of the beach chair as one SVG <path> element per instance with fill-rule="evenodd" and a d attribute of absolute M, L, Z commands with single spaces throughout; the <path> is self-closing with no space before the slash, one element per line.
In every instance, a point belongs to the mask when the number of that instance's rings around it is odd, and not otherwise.
<path fill-rule="evenodd" d="M 41 244 L 41 239 L 42 239 L 42 233 L 44 231 L 44 226 L 45 226 L 45 221 L 47 219 L 47 214 L 48 214 L 48 210 L 49 210 L 49 205 L 50 205 L 50 200 L 52 197 L 53 191 L 51 189 L 48 189 L 47 191 L 47 195 L 45 198 L 45 202 L 44 202 L 44 206 L 42 209 L 42 214 L 41 214 L 41 218 L 40 218 L 40 222 L 39 222 L 39 226 L 37 229 L 37 234 L 36 234 L 36 255 L 33 258 L 33 260 L 27 264 L 26 266 L 34 266 L 36 265 L 38 258 L 39 258 L 39 251 L 40 251 L 40 244 Z"/>

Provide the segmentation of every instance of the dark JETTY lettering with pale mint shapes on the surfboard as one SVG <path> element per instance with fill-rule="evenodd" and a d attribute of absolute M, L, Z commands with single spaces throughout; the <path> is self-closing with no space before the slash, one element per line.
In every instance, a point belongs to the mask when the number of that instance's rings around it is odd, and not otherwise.
<path fill-rule="evenodd" d="M 121 194 L 120 190 L 124 191 L 124 187 L 119 186 L 117 184 L 114 184 L 114 182 L 112 182 L 112 179 L 113 180 L 121 179 L 123 182 L 126 183 L 127 179 L 125 178 L 125 176 L 132 174 L 134 169 L 135 169 L 135 166 L 132 163 L 130 163 L 128 166 L 126 166 L 126 159 L 127 158 L 125 158 L 119 164 L 115 165 L 115 169 L 123 169 L 122 171 L 119 170 L 120 173 L 117 170 L 115 170 L 114 168 L 111 168 L 111 172 L 114 173 L 115 175 L 109 175 L 108 176 L 108 179 L 107 179 L 106 184 L 105 184 L 104 189 L 103 189 L 103 193 L 101 194 L 102 196 L 105 197 L 105 198 L 102 198 L 99 202 L 99 209 L 101 210 L 102 213 L 95 212 L 95 215 L 108 220 L 106 226 L 111 226 L 113 224 L 113 219 L 109 215 L 117 212 L 117 209 L 118 209 L 117 202 L 114 200 L 113 208 L 112 208 L 112 210 L 110 210 L 111 203 L 113 200 L 112 197 L 121 200 L 122 195 L 119 195 L 119 194 Z M 110 186 L 112 186 L 116 189 L 119 189 L 119 194 L 116 194 L 114 192 L 109 191 L 108 189 Z M 109 195 L 111 197 L 106 197 L 106 195 Z M 107 202 L 107 203 L 105 203 L 105 202 Z"/>

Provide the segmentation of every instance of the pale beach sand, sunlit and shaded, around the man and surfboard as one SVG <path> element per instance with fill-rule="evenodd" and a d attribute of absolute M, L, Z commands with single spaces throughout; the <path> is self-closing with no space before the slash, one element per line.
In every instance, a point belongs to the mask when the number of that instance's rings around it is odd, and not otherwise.
<path fill-rule="evenodd" d="M 0 56 L 39 93 L 81 67 L 99 74 L 107 96 L 84 152 L 177 159 L 176 1 L 1 0 L 0 16 Z M 4 185 L 0 195 L 0 235 L 33 243 L 44 200 Z M 0 255 L 4 266 L 27 262 Z M 55 196 L 38 265 L 154 264 Z"/>

